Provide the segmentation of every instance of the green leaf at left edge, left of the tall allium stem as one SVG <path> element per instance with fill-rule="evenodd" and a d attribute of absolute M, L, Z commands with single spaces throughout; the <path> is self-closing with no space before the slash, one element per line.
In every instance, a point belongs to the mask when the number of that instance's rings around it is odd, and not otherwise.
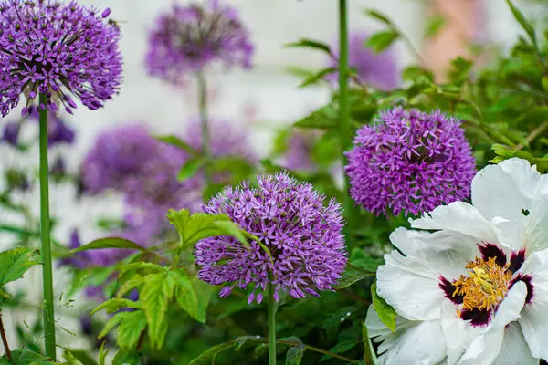
<path fill-rule="evenodd" d="M 37 261 L 38 250 L 16 247 L 0 253 L 0 287 L 23 277 L 32 266 L 40 265 Z"/>

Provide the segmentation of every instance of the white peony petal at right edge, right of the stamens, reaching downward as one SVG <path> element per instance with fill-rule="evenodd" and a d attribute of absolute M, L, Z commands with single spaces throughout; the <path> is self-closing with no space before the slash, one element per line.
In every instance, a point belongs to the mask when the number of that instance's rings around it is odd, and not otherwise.
<path fill-rule="evenodd" d="M 523 336 L 532 356 L 548 360 L 548 249 L 527 257 L 518 274 L 532 276 L 532 302 L 522 310 Z"/>

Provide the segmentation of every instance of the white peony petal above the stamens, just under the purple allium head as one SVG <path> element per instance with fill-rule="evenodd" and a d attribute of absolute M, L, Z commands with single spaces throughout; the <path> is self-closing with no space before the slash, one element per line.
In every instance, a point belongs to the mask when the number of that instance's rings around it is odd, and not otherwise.
<path fill-rule="evenodd" d="M 453 202 L 441 205 L 422 218 L 411 222 L 413 228 L 448 230 L 476 238 L 476 243 L 498 243 L 495 226 L 469 203 Z"/>

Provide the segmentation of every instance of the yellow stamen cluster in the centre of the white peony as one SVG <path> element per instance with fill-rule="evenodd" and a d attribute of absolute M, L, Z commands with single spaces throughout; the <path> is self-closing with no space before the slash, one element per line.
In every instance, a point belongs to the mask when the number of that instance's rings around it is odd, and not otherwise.
<path fill-rule="evenodd" d="M 469 276 L 460 276 L 453 282 L 453 297 L 463 297 L 463 309 L 490 309 L 501 303 L 508 293 L 511 271 L 495 264 L 495 257 L 485 261 L 476 257 L 466 266 Z"/>

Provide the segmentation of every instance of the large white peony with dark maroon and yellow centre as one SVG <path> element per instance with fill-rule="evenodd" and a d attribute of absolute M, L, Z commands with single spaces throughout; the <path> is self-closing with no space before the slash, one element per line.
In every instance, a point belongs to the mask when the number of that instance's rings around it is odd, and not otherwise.
<path fill-rule="evenodd" d="M 478 172 L 472 203 L 439 206 L 398 228 L 369 308 L 380 364 L 530 365 L 548 360 L 548 175 L 511 159 Z"/>

